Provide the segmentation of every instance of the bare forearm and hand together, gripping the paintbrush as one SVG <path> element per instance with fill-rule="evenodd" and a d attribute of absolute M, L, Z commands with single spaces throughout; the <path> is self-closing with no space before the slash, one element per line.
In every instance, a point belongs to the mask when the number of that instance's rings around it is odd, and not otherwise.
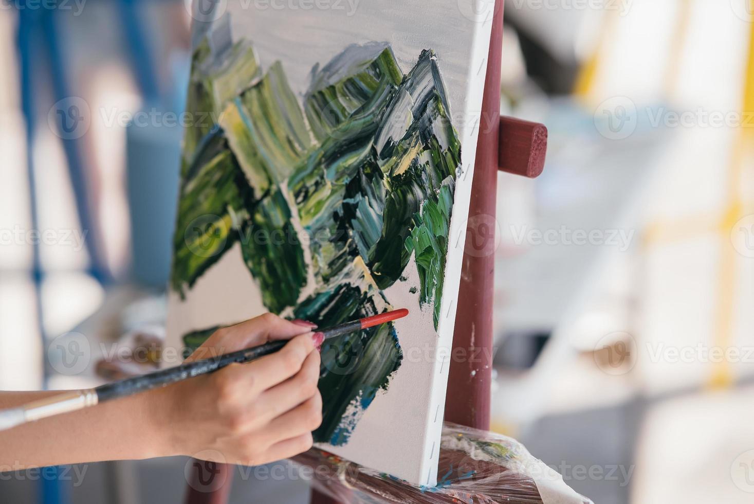
<path fill-rule="evenodd" d="M 0 472 L 197 453 L 257 465 L 302 453 L 322 419 L 322 340 L 312 327 L 271 314 L 225 327 L 204 343 L 210 355 L 287 343 L 247 364 L 0 431 Z M 57 393 L 0 392 L 0 408 Z"/>

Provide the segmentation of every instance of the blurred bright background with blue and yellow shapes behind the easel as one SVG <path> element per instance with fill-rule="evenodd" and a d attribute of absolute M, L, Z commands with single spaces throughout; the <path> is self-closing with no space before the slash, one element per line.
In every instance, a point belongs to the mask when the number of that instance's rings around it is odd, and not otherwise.
<path fill-rule="evenodd" d="M 493 430 L 594 502 L 752 502 L 754 2 L 505 3 L 501 112 L 550 143 L 499 176 Z M 104 343 L 162 337 L 189 21 L 0 0 L 0 389 L 91 386 Z M 0 492 L 179 502 L 185 464 Z M 252 480 L 234 502 L 307 502 Z"/>

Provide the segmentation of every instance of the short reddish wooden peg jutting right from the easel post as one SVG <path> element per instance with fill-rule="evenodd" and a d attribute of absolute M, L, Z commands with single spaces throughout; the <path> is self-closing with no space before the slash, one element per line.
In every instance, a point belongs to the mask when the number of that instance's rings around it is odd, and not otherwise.
<path fill-rule="evenodd" d="M 547 126 L 501 115 L 498 149 L 498 170 L 539 177 L 547 155 Z"/>

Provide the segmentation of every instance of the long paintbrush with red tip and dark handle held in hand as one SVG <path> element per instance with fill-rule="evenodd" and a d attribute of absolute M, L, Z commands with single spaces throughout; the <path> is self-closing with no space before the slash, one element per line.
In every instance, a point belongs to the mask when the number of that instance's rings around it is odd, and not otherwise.
<path fill-rule="evenodd" d="M 357 330 L 374 327 L 375 325 L 385 324 L 390 321 L 403 318 L 409 314 L 407 309 L 397 309 L 392 312 L 385 312 L 371 317 L 360 318 L 356 321 L 338 324 L 318 332 L 323 333 L 323 341 L 343 334 L 353 333 Z M 84 407 L 95 406 L 104 401 L 112 401 L 126 395 L 144 392 L 149 389 L 164 387 L 171 383 L 186 380 L 201 374 L 212 373 L 228 364 L 234 362 L 250 362 L 264 355 L 270 355 L 282 349 L 288 340 L 271 341 L 260 346 L 254 346 L 250 349 L 239 350 L 225 355 L 204 359 L 202 361 L 189 362 L 180 366 L 170 367 L 168 369 L 156 371 L 142 376 L 135 376 L 120 380 L 118 382 L 107 383 L 94 389 L 72 390 L 62 392 L 59 395 L 53 395 L 49 398 L 32 401 L 19 407 L 0 410 L 0 431 L 11 429 L 22 423 L 33 422 L 38 419 L 47 418 L 48 416 L 59 415 L 60 413 L 69 413 L 70 411 L 81 410 Z"/>

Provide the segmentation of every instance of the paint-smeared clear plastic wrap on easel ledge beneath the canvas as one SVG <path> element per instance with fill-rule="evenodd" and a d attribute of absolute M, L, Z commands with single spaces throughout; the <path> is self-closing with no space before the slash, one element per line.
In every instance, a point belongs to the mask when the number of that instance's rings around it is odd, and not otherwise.
<path fill-rule="evenodd" d="M 400 453 L 395 454 L 400 457 Z M 562 477 L 518 441 L 445 423 L 437 486 L 418 487 L 314 448 L 294 461 L 312 471 L 315 489 L 341 502 L 586 504 Z"/>

